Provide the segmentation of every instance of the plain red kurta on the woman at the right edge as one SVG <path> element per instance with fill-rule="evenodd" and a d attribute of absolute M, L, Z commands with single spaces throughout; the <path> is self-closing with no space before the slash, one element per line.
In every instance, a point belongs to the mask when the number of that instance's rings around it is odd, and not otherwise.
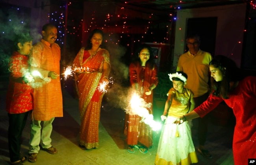
<path fill-rule="evenodd" d="M 212 94 L 194 111 L 200 117 L 213 110 L 223 101 Z M 248 163 L 248 158 L 256 158 L 256 77 L 248 76 L 241 80 L 238 86 L 224 102 L 233 109 L 236 116 L 236 126 L 233 137 L 233 154 L 236 165 Z"/>

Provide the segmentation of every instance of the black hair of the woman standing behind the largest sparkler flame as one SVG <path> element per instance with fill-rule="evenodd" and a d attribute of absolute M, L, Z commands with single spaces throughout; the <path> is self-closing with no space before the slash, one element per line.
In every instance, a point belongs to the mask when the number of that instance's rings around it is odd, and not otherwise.
<path fill-rule="evenodd" d="M 142 44 L 138 47 L 138 49 L 135 51 L 134 55 L 132 56 L 132 62 L 139 62 L 140 64 L 142 63 L 141 59 L 139 58 L 139 53 L 141 52 L 142 49 L 148 49 L 150 56 L 145 64 L 145 66 L 148 66 L 150 69 L 152 69 L 154 67 L 154 63 L 155 63 L 154 55 L 153 55 L 152 48 L 150 46 L 148 46 L 147 44 Z"/>

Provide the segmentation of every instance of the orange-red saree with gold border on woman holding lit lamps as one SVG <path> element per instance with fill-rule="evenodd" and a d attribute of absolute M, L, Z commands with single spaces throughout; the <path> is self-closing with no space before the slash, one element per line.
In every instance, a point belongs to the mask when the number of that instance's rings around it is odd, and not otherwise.
<path fill-rule="evenodd" d="M 91 71 L 75 75 L 81 118 L 80 144 L 91 149 L 99 145 L 98 125 L 104 93 L 98 90 L 98 86 L 103 78 L 103 63 L 109 63 L 109 53 L 106 49 L 99 48 L 95 55 L 84 60 L 83 55 L 86 53 L 88 55 L 89 52 L 82 47 L 74 59 L 73 67 L 85 67 Z"/>

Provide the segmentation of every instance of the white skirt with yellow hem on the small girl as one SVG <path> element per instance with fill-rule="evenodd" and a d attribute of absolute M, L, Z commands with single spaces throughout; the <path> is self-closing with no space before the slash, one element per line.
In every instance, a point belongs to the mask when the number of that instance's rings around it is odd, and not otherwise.
<path fill-rule="evenodd" d="M 197 163 L 197 155 L 191 136 L 192 121 L 173 124 L 176 117 L 168 116 L 163 125 L 158 144 L 156 165 Z"/>

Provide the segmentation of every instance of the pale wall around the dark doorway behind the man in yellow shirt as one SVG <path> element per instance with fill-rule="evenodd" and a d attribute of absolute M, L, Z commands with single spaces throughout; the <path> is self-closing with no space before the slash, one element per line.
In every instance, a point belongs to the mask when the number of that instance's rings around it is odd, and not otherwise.
<path fill-rule="evenodd" d="M 228 56 L 240 67 L 245 13 L 245 3 L 177 11 L 173 65 L 177 66 L 179 56 L 185 53 L 187 19 L 217 17 L 214 55 Z"/>

